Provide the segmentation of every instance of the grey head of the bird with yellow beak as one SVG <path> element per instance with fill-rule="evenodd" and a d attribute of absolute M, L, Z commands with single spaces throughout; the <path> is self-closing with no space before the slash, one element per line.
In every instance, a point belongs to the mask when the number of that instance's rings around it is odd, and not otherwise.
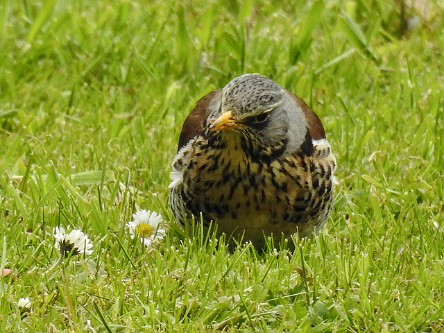
<path fill-rule="evenodd" d="M 307 123 L 286 90 L 260 74 L 244 74 L 222 89 L 219 117 L 210 130 L 239 137 L 246 153 L 273 159 L 305 141 Z"/>

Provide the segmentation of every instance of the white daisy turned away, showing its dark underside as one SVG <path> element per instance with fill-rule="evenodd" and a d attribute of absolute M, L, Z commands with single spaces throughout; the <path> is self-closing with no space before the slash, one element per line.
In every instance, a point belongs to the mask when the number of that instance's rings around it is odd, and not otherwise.
<path fill-rule="evenodd" d="M 92 253 L 92 243 L 86 234 L 78 229 L 73 229 L 69 234 L 65 234 L 65 228 L 54 228 L 54 237 L 56 238 L 56 248 L 60 251 L 60 254 L 67 257 L 69 253 L 78 255 L 85 253 L 89 255 Z"/>

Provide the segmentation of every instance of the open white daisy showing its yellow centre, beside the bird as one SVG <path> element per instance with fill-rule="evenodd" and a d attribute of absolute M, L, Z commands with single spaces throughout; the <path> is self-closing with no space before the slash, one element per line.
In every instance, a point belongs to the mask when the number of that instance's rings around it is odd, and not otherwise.
<path fill-rule="evenodd" d="M 130 237 L 134 238 L 137 234 L 140 241 L 145 246 L 150 246 L 153 241 L 165 237 L 165 230 L 160 228 L 162 216 L 149 210 L 138 210 L 133 214 L 134 221 L 130 221 L 126 226 L 130 231 Z"/>

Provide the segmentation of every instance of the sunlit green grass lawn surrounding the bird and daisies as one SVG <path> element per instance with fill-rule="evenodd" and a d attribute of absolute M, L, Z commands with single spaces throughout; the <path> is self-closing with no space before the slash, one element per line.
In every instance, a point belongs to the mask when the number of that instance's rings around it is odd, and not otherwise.
<path fill-rule="evenodd" d="M 1 1 L 0 332 L 444 332 L 443 3 L 402 3 Z M 125 224 L 173 228 L 187 112 L 246 72 L 323 120 L 326 228 L 292 255 L 198 232 L 144 248 Z M 56 225 L 94 253 L 45 275 Z"/>

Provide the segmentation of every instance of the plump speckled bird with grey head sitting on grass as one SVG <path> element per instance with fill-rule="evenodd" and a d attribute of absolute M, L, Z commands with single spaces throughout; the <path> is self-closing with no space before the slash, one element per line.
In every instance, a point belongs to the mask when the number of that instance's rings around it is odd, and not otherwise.
<path fill-rule="evenodd" d="M 277 243 L 323 228 L 335 168 L 316 113 L 270 78 L 243 74 L 203 96 L 185 119 L 169 205 L 184 226 L 215 226 L 217 237 L 264 249 L 267 237 Z"/>

